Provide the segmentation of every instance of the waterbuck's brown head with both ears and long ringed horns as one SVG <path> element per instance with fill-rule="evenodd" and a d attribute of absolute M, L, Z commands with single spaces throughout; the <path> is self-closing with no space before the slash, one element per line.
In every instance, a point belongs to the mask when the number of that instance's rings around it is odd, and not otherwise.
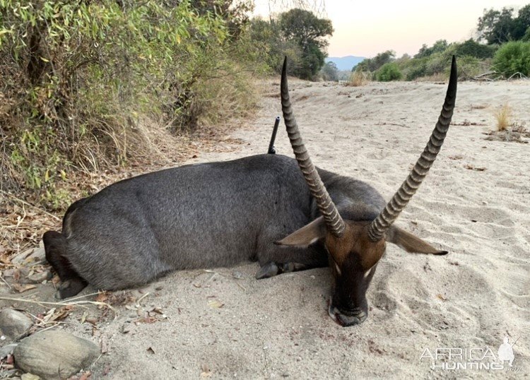
<path fill-rule="evenodd" d="M 418 162 L 387 206 L 374 220 L 351 220 L 348 208 L 337 210 L 322 179 L 307 153 L 298 124 L 293 115 L 287 84 L 286 59 L 281 76 L 281 105 L 283 119 L 288 131 L 296 160 L 302 170 L 312 196 L 317 202 L 320 216 L 285 237 L 276 244 L 307 247 L 322 240 L 329 252 L 331 271 L 334 277 L 333 295 L 329 302 L 329 315 L 342 326 L 351 326 L 365 321 L 368 305 L 366 291 L 374 276 L 379 259 L 384 254 L 387 242 L 396 244 L 405 251 L 419 254 L 447 254 L 413 234 L 393 225 L 399 213 L 406 207 L 435 161 L 451 122 L 457 95 L 457 64 L 453 57 L 449 86 L 444 105 L 435 129 L 421 153 Z M 341 213 L 343 216 L 341 216 Z"/>

